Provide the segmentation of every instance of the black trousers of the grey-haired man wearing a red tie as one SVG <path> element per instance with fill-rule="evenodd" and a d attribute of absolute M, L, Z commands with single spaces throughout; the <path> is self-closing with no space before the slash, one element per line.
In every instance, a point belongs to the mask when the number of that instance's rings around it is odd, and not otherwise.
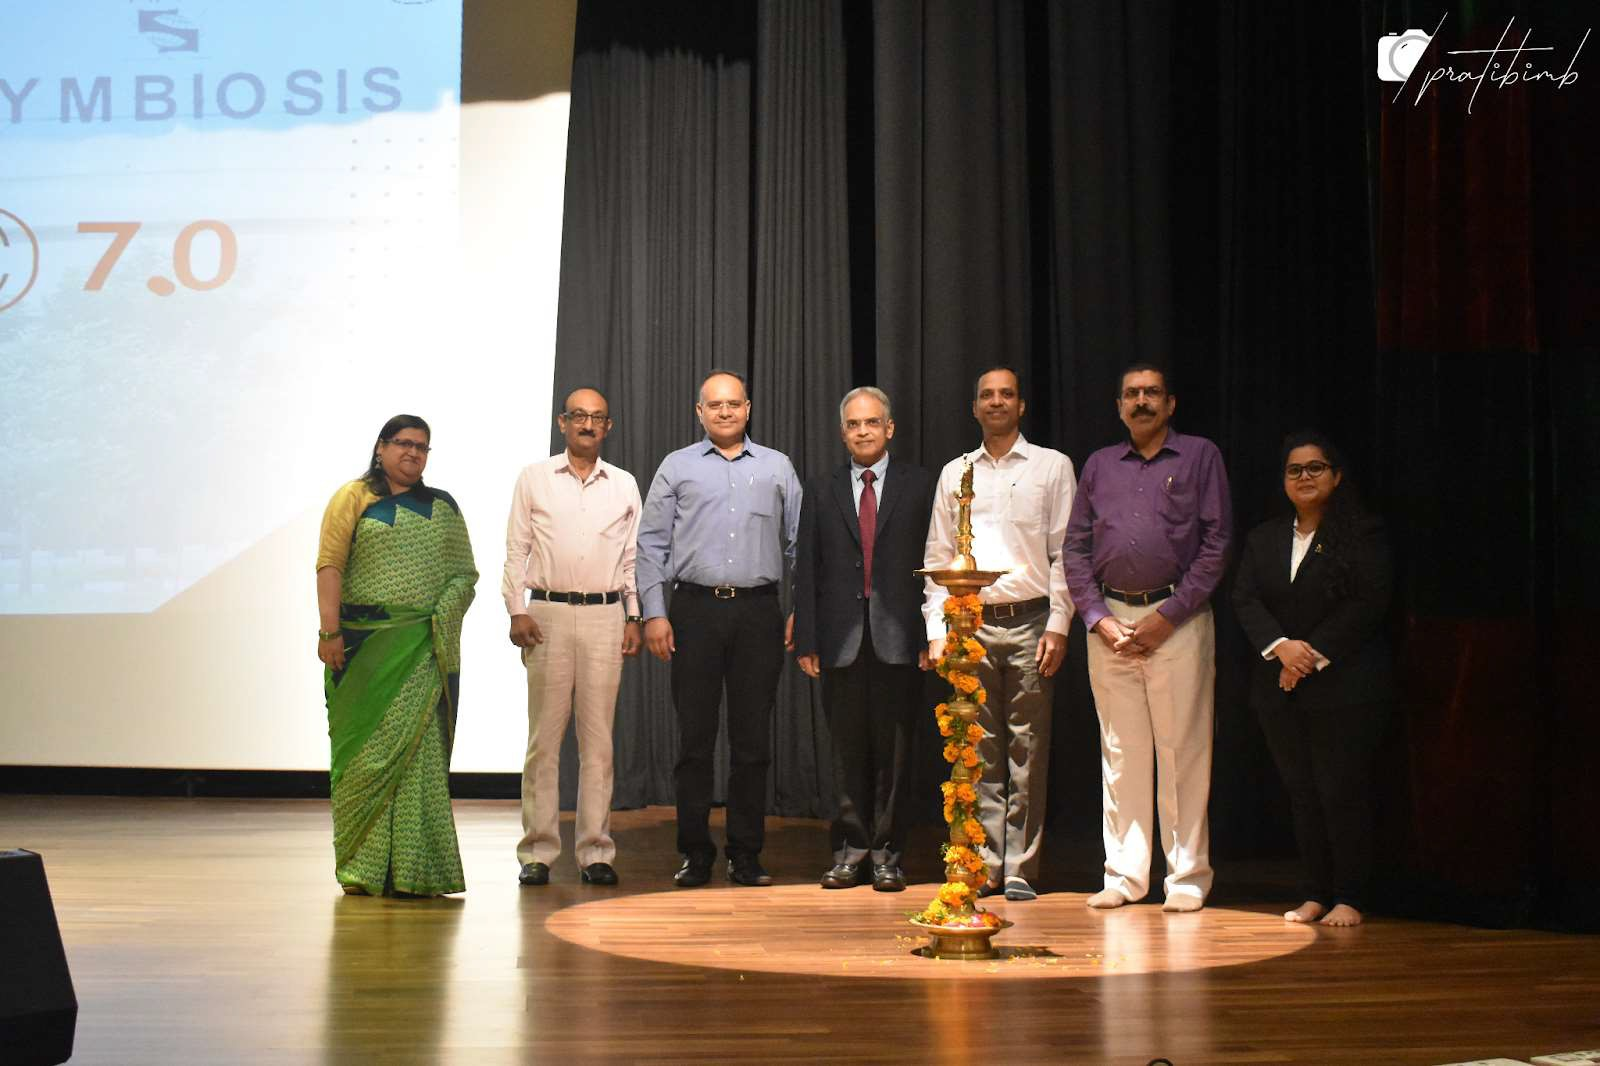
<path fill-rule="evenodd" d="M 899 866 L 906 847 L 910 730 L 922 677 L 915 664 L 883 663 L 872 629 L 861 623 L 861 651 L 850 666 L 822 671 L 822 706 L 834 738 L 835 863 Z"/>

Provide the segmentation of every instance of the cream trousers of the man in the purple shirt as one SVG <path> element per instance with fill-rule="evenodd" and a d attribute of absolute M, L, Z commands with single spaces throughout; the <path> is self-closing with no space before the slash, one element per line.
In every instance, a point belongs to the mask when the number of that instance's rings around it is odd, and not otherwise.
<path fill-rule="evenodd" d="M 1133 607 L 1107 599 L 1106 607 L 1133 624 L 1160 603 Z M 1192 615 L 1147 656 L 1117 655 L 1098 632 L 1090 632 L 1088 655 L 1101 723 L 1106 887 L 1128 900 L 1149 892 L 1154 808 L 1160 808 L 1166 898 L 1203 901 L 1211 890 L 1211 608 Z"/>

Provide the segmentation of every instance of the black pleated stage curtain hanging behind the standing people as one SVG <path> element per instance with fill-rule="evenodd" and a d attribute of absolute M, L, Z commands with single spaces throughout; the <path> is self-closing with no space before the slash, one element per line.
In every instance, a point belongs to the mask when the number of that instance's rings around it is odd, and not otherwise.
<path fill-rule="evenodd" d="M 1485 6 L 1464 34 L 1498 30 Z M 757 439 L 806 475 L 842 459 L 837 397 L 874 383 L 898 455 L 936 467 L 978 442 L 974 376 L 1008 363 L 1024 432 L 1082 466 L 1122 432 L 1120 368 L 1152 359 L 1178 424 L 1227 458 L 1240 536 L 1285 506 L 1280 437 L 1326 429 L 1402 570 L 1395 906 L 1592 927 L 1578 885 L 1600 861 L 1570 834 L 1600 799 L 1573 763 L 1595 739 L 1576 669 L 1595 581 L 1581 448 L 1600 429 L 1594 98 L 1581 80 L 1472 117 L 1459 94 L 1394 104 L 1373 50 L 1408 16 L 586 0 L 557 397 L 606 389 L 608 455 L 645 482 L 698 434 L 698 378 L 742 368 Z M 1250 648 L 1226 597 L 1218 615 L 1214 850 L 1283 855 Z M 1050 828 L 1096 840 L 1080 627 L 1069 656 Z M 826 735 L 794 674 L 778 715 L 773 810 L 827 813 Z M 670 802 L 656 664 L 627 671 L 619 722 L 619 802 Z"/>

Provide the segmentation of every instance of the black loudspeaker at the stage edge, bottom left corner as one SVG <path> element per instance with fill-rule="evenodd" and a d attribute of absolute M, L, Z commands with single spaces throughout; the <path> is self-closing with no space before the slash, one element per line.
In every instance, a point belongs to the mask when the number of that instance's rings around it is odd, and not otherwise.
<path fill-rule="evenodd" d="M 64 1063 L 77 1024 L 45 861 L 34 852 L 0 852 L 0 1061 Z"/>

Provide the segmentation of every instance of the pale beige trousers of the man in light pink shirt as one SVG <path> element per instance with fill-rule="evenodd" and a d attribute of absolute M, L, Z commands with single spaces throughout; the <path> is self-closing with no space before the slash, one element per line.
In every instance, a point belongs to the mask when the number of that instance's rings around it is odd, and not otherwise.
<path fill-rule="evenodd" d="M 578 824 L 573 852 L 579 866 L 610 863 L 611 722 L 622 682 L 622 607 L 619 603 L 533 602 L 528 615 L 544 643 L 525 648 L 528 667 L 528 754 L 522 763 L 522 842 L 518 863 L 554 863 L 562 853 L 560 759 L 568 720 L 578 728 Z"/>

